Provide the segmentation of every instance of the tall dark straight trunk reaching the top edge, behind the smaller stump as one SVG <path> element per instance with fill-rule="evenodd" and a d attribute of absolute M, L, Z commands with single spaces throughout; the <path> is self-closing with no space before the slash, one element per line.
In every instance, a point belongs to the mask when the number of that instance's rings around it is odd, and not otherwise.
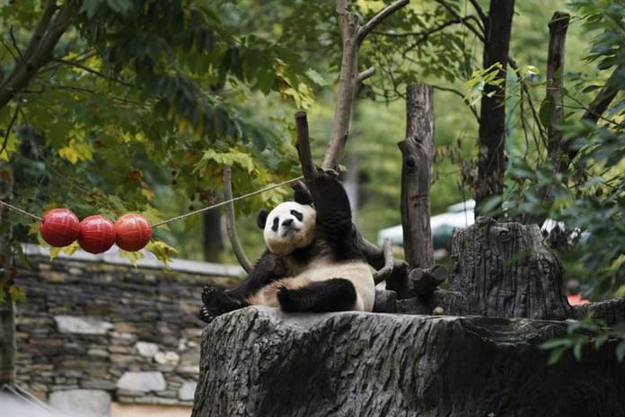
<path fill-rule="evenodd" d="M 500 64 L 495 81 L 486 84 L 480 109 L 478 183 L 475 186 L 476 216 L 490 196 L 503 195 L 506 158 L 506 66 L 515 0 L 491 0 L 484 43 L 484 68 Z"/>

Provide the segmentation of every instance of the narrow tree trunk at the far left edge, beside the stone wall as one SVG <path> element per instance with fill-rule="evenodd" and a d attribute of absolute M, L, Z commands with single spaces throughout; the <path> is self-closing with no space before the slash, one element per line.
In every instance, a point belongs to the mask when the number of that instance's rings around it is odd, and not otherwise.
<path fill-rule="evenodd" d="M 0 199 L 6 202 L 13 200 L 13 170 L 1 161 Z M 7 208 L 0 206 L 0 226 L 6 226 L 7 216 Z M 0 291 L 4 295 L 4 302 L 0 301 L 0 387 L 15 383 L 15 305 L 9 294 L 14 273 L 11 244 L 11 228 L 7 227 L 0 234 Z"/>

